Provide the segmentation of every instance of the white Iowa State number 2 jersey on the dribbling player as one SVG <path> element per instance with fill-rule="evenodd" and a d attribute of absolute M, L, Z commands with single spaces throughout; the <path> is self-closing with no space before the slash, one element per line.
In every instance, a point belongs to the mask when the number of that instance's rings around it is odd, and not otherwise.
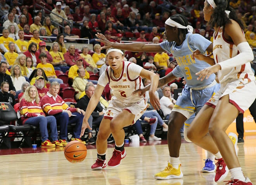
<path fill-rule="evenodd" d="M 140 102 L 144 97 L 138 95 L 132 96 L 135 90 L 143 88 L 142 78 L 139 76 L 143 68 L 129 61 L 123 61 L 123 70 L 118 79 L 113 75 L 110 66 L 107 67 L 105 73 L 100 75 L 98 84 L 105 87 L 109 83 L 112 90 L 112 100 L 119 100 L 124 103 Z"/>

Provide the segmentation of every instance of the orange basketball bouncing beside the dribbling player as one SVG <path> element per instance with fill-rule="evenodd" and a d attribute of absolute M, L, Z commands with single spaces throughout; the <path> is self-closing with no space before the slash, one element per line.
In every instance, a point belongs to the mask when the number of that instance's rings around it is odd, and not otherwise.
<path fill-rule="evenodd" d="M 66 159 L 71 163 L 81 163 L 87 155 L 86 146 L 80 141 L 70 141 L 64 150 Z"/>

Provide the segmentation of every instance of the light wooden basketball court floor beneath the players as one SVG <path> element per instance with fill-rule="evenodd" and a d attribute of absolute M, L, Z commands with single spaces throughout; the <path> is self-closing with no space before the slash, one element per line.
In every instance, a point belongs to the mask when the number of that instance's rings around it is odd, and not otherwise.
<path fill-rule="evenodd" d="M 256 142 L 245 139 L 238 144 L 239 161 L 246 176 L 256 184 Z M 161 143 L 161 142 L 160 142 Z M 206 153 L 192 143 L 180 149 L 182 179 L 155 180 L 154 174 L 163 170 L 168 161 L 166 144 L 126 146 L 127 156 L 117 168 L 92 171 L 96 149 L 88 149 L 86 159 L 79 164 L 69 163 L 63 149 L 52 152 L 9 154 L 0 156 L 0 185 L 213 185 L 215 173 L 201 173 Z M 166 143 L 166 141 L 162 141 Z M 154 145 L 155 144 L 155 145 Z M 127 145 L 127 144 L 126 144 Z M 131 144 L 128 144 L 131 145 Z M 112 146 L 114 146 L 112 144 Z M 90 148 L 88 146 L 88 148 Z M 22 150 L 22 149 L 21 149 Z M 51 151 L 51 149 L 44 149 Z M 59 150 L 59 151 L 58 151 Z M 2 150 L 0 150 L 1 153 Z M 107 150 L 107 160 L 113 148 Z M 37 151 L 35 151 L 37 152 Z M 230 174 L 226 178 L 230 180 Z M 224 184 L 224 183 L 219 183 Z"/>

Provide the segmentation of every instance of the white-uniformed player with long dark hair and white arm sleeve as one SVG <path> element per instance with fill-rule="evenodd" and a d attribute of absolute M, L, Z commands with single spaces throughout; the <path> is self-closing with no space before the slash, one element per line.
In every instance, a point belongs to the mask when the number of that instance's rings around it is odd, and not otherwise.
<path fill-rule="evenodd" d="M 216 182 L 224 180 L 229 169 L 231 180 L 227 184 L 252 185 L 249 178 L 244 177 L 234 145 L 225 131 L 239 112 L 248 109 L 256 98 L 256 81 L 250 64 L 254 59 L 253 52 L 244 37 L 241 21 L 229 7 L 229 1 L 205 0 L 203 12 L 204 19 L 215 30 L 215 64 L 196 74 L 198 80 L 204 80 L 218 73 L 221 87 L 199 111 L 189 127 L 187 137 L 215 154 L 218 160 Z M 202 54 L 195 54 L 195 58 L 208 62 L 213 60 Z"/>

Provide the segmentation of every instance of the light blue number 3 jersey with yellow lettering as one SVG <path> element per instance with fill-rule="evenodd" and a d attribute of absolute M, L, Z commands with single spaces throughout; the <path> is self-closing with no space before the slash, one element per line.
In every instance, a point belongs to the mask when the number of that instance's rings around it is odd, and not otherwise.
<path fill-rule="evenodd" d="M 161 48 L 168 53 L 172 53 L 175 57 L 178 66 L 173 69 L 172 73 L 176 77 L 184 77 L 187 81 L 187 87 L 204 87 L 211 84 L 215 80 L 215 75 L 212 74 L 208 79 L 203 81 L 197 80 L 198 71 L 203 70 L 204 68 L 210 67 L 211 65 L 205 61 L 200 61 L 197 59 L 192 59 L 192 53 L 196 49 L 201 51 L 201 53 L 206 54 L 206 49 L 211 44 L 211 41 L 207 40 L 199 34 L 188 33 L 186 39 L 180 46 L 176 46 L 176 42 L 164 41 L 160 43 Z M 186 87 L 185 86 L 185 87 Z"/>

